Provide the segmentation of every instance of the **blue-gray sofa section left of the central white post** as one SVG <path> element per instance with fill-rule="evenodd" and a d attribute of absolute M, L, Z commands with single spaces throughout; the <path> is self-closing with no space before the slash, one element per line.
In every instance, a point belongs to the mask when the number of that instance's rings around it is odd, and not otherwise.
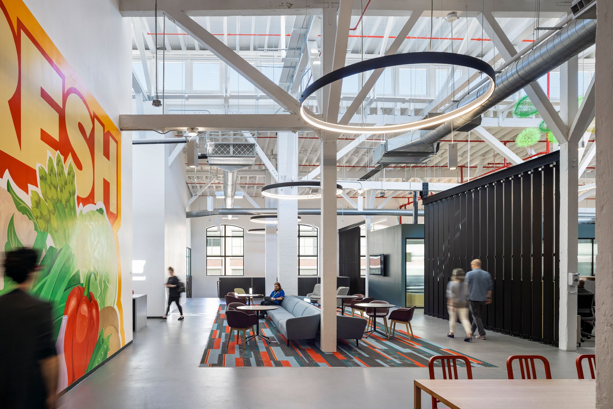
<path fill-rule="evenodd" d="M 286 296 L 278 309 L 267 311 L 277 329 L 287 338 L 287 345 L 290 340 L 312 339 L 317 336 L 321 311 L 302 298 Z"/>

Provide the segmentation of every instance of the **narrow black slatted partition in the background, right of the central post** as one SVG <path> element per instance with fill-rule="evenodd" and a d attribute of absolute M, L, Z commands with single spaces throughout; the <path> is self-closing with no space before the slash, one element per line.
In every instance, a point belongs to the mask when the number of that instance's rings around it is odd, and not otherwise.
<path fill-rule="evenodd" d="M 349 292 L 364 294 L 364 278 L 360 277 L 360 227 L 338 231 L 338 273 L 349 277 Z"/>

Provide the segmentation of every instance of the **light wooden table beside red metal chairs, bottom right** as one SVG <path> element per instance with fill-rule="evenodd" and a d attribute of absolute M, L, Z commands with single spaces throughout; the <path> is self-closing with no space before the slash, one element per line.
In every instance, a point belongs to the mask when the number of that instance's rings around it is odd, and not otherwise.
<path fill-rule="evenodd" d="M 414 382 L 452 409 L 593 409 L 596 406 L 596 381 L 591 379 L 425 379 Z M 430 401 L 430 397 L 422 394 L 424 407 L 429 408 Z"/>

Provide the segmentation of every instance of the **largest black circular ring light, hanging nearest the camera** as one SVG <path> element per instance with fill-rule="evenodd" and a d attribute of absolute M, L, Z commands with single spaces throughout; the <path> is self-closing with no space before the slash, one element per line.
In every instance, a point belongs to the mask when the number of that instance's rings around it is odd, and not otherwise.
<path fill-rule="evenodd" d="M 311 115 L 310 111 L 307 111 L 307 109 L 305 109 L 304 102 L 309 96 L 314 94 L 315 91 L 318 91 L 324 86 L 329 85 L 335 81 L 342 80 L 343 78 L 349 77 L 349 75 L 360 74 L 360 72 L 382 69 L 386 67 L 403 66 L 408 64 L 447 64 L 472 68 L 476 69 L 477 71 L 481 71 L 483 74 L 487 75 L 489 77 L 490 84 L 487 90 L 485 90 L 485 92 L 482 93 L 480 96 L 473 99 L 473 101 L 468 102 L 468 104 L 462 105 L 462 107 L 452 110 L 451 112 L 442 113 L 441 115 L 436 115 L 436 117 L 424 118 L 419 121 L 406 122 L 401 124 L 378 126 L 340 125 L 322 121 L 321 119 Z M 465 113 L 476 109 L 485 101 L 487 101 L 487 99 L 492 95 L 495 86 L 496 77 L 492 66 L 490 66 L 490 64 L 485 63 L 485 61 L 482 61 L 481 59 L 469 55 L 444 52 L 419 52 L 386 55 L 383 57 L 367 59 L 365 61 L 360 61 L 359 63 L 342 67 L 340 69 L 330 72 L 329 74 L 324 75 L 323 77 L 319 78 L 319 80 L 316 80 L 311 85 L 307 86 L 305 91 L 302 93 L 302 96 L 300 96 L 300 116 L 303 118 L 303 120 L 307 121 L 316 128 L 326 129 L 327 131 L 332 132 L 346 132 L 349 134 L 377 134 L 386 132 L 411 131 L 412 129 L 420 129 L 428 126 L 441 124 L 443 122 L 460 117 L 460 115 L 464 115 Z"/>

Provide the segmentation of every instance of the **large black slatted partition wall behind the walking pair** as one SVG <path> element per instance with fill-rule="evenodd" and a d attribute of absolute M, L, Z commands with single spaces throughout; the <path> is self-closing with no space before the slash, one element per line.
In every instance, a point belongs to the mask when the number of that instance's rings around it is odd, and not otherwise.
<path fill-rule="evenodd" d="M 549 153 L 425 199 L 425 309 L 447 318 L 451 272 L 479 258 L 492 275 L 484 325 L 557 344 L 559 153 Z"/>

